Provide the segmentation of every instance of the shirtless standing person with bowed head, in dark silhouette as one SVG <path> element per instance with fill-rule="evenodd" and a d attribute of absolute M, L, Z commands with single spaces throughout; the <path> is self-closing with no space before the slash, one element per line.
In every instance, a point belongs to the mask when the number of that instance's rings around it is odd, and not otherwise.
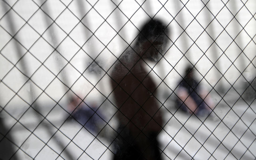
<path fill-rule="evenodd" d="M 156 136 L 162 129 L 162 115 L 154 96 L 157 86 L 145 60 L 159 60 L 165 27 L 160 21 L 151 20 L 143 28 L 137 43 L 119 58 L 111 74 L 120 133 L 114 142 L 114 159 L 161 159 Z M 151 35 L 145 35 L 150 28 Z"/>

